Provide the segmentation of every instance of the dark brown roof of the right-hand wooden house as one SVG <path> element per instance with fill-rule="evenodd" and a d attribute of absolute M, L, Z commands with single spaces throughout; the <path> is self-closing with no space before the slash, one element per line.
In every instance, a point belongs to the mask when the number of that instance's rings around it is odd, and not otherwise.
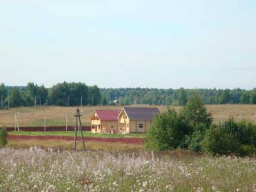
<path fill-rule="evenodd" d="M 131 120 L 152 120 L 159 113 L 158 108 L 124 108 Z"/>

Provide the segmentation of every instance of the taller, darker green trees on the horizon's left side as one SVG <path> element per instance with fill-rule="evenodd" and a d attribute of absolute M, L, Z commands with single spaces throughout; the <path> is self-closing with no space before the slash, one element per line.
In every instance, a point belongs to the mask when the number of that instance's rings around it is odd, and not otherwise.
<path fill-rule="evenodd" d="M 58 83 L 52 88 L 45 88 L 28 83 L 27 86 L 10 87 L 0 85 L 1 108 L 18 106 L 79 106 L 101 104 L 100 90 L 97 86 L 84 83 Z"/>

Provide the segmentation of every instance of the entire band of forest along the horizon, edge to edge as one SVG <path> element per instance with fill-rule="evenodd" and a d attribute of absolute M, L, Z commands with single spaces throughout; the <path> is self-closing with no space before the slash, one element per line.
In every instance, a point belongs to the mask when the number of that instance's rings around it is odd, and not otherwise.
<path fill-rule="evenodd" d="M 83 105 L 185 105 L 195 89 L 98 88 L 84 83 L 58 83 L 51 88 L 28 83 L 27 86 L 0 85 L 1 108 L 33 106 L 36 103 L 56 106 Z M 196 89 L 205 104 L 256 104 L 253 90 Z"/>

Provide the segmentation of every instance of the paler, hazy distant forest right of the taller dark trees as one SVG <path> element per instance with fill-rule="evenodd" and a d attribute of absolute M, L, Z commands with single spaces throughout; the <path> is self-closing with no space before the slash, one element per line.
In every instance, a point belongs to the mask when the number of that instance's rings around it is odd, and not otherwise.
<path fill-rule="evenodd" d="M 184 105 L 195 89 L 155 89 L 155 88 L 102 88 L 105 104 L 120 100 L 121 104 Z M 205 104 L 256 104 L 256 88 L 253 90 L 196 89 Z"/>

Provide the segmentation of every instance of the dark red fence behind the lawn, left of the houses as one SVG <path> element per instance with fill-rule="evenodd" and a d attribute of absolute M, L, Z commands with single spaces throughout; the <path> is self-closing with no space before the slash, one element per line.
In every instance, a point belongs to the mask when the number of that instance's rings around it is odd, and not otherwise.
<path fill-rule="evenodd" d="M 7 127 L 7 131 L 14 131 L 14 127 Z M 19 127 L 20 131 L 44 131 L 44 127 Z M 66 131 L 65 126 L 46 127 L 46 131 Z M 74 131 L 74 127 L 68 126 L 67 131 Z M 83 131 L 91 131 L 91 127 L 83 127 Z"/>

